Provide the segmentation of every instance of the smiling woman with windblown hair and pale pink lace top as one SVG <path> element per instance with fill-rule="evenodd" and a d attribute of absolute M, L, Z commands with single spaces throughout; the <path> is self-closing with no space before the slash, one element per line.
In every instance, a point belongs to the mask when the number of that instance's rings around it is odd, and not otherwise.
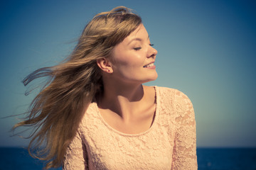
<path fill-rule="evenodd" d="M 14 128 L 41 127 L 29 147 L 45 146 L 38 155 L 46 168 L 197 169 L 191 101 L 142 85 L 157 78 L 156 54 L 129 9 L 97 14 L 68 60 L 24 79 L 51 78 Z"/>

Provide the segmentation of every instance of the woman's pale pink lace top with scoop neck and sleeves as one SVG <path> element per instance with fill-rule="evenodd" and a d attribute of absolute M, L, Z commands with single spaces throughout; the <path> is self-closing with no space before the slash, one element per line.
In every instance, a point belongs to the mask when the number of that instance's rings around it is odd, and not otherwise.
<path fill-rule="evenodd" d="M 149 130 L 124 134 L 108 125 L 91 103 L 70 143 L 63 169 L 197 169 L 193 106 L 181 91 L 156 89 Z"/>

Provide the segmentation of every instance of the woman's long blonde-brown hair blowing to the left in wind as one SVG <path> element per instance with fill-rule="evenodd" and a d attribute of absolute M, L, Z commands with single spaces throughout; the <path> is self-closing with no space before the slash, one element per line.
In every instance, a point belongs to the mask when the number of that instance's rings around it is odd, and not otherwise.
<path fill-rule="evenodd" d="M 142 19 L 124 6 L 98 13 L 87 24 L 66 60 L 37 69 L 23 79 L 26 86 L 34 79 L 48 78 L 29 106 L 26 118 L 13 127 L 13 130 L 21 126 L 34 128 L 28 137 L 31 138 L 28 152 L 45 160 L 46 169 L 63 164 L 66 149 L 87 106 L 104 90 L 96 61 L 111 57 L 114 46 L 141 23 Z"/>

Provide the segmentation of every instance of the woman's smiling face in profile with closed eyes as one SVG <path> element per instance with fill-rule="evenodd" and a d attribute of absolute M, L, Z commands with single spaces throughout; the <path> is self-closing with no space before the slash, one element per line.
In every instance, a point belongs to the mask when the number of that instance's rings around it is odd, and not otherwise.
<path fill-rule="evenodd" d="M 157 51 L 152 47 L 149 34 L 141 24 L 112 52 L 112 77 L 127 83 L 145 83 L 157 78 Z"/>

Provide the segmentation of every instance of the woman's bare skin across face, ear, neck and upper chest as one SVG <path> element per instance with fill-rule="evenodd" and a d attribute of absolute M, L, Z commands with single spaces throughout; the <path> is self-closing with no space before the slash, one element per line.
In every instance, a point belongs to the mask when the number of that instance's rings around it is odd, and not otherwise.
<path fill-rule="evenodd" d="M 141 24 L 114 47 L 111 60 L 97 60 L 104 85 L 98 108 L 102 118 L 119 132 L 144 132 L 154 121 L 155 89 L 142 84 L 157 78 L 154 65 L 144 67 L 156 60 L 156 54 Z"/>

